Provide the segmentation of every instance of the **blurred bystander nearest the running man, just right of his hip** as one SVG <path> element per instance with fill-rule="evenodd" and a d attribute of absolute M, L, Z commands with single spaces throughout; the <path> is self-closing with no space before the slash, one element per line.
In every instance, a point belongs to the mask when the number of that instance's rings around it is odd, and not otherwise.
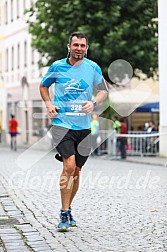
<path fill-rule="evenodd" d="M 97 114 L 92 114 L 91 120 L 91 138 L 92 138 L 92 155 L 98 155 L 97 138 L 99 136 L 99 120 Z"/>

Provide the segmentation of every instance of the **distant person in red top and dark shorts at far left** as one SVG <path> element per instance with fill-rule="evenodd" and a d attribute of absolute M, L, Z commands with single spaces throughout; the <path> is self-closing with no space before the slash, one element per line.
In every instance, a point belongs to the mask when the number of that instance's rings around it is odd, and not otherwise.
<path fill-rule="evenodd" d="M 17 127 L 18 127 L 18 122 L 15 119 L 15 116 L 11 115 L 11 119 L 9 120 L 9 133 L 11 136 L 10 147 L 11 147 L 11 150 L 14 149 L 15 151 L 17 150 L 17 142 L 16 142 Z"/>

